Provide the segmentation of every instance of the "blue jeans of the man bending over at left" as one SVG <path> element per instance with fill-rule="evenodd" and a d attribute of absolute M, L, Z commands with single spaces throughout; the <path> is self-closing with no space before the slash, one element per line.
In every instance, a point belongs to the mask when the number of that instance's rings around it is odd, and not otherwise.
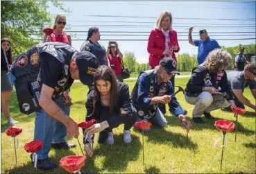
<path fill-rule="evenodd" d="M 65 107 L 62 97 L 59 97 L 55 102 L 60 109 L 69 116 L 70 107 Z M 36 112 L 34 140 L 40 140 L 44 143 L 42 150 L 37 152 L 38 159 L 46 159 L 49 157 L 51 143 L 65 142 L 66 135 L 67 128 L 65 125 L 53 119 L 53 117 L 49 116 L 44 110 Z"/>

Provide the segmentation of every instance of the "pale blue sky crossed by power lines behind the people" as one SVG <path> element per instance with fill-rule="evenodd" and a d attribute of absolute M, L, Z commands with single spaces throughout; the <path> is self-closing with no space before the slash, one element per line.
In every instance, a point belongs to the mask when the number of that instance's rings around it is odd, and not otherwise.
<path fill-rule="evenodd" d="M 96 26 L 101 32 L 100 42 L 105 48 L 108 47 L 108 40 L 128 39 L 128 41 L 117 41 L 119 50 L 122 53 L 133 52 L 137 62 L 146 63 L 148 35 L 155 28 L 155 21 L 163 10 L 169 10 L 173 15 L 173 29 L 178 33 L 180 45 L 179 53 L 197 54 L 198 52 L 198 47 L 188 42 L 189 26 L 196 26 L 192 33 L 194 40 L 199 39 L 198 32 L 201 29 L 206 29 L 210 38 L 222 46 L 255 44 L 255 39 L 221 40 L 255 38 L 255 1 L 63 1 L 63 3 L 71 12 L 63 12 L 51 3 L 49 3 L 49 12 L 52 15 L 66 15 L 68 28 L 65 31 L 71 34 L 72 46 L 78 51 L 87 38 L 88 29 Z M 132 31 L 144 33 L 128 33 Z"/>

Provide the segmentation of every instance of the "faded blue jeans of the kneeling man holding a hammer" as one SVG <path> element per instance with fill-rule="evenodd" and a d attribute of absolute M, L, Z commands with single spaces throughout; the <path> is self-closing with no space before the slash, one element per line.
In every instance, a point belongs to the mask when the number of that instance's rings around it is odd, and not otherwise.
<path fill-rule="evenodd" d="M 160 128 L 164 128 L 167 126 L 167 119 L 165 119 L 164 114 L 160 111 L 159 107 L 157 107 L 157 112 L 155 112 L 155 115 L 151 117 L 150 119 L 143 119 L 144 121 L 148 122 L 150 121 L 154 125 L 157 125 Z M 137 121 L 142 121 L 139 116 L 137 116 Z M 151 128 L 145 129 L 144 132 L 151 131 Z"/>

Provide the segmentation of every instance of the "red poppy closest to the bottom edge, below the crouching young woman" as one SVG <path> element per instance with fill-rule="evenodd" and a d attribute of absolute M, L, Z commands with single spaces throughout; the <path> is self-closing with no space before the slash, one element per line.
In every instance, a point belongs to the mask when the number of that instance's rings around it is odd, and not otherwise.
<path fill-rule="evenodd" d="M 80 169 L 85 166 L 85 156 L 70 155 L 62 157 L 62 159 L 60 159 L 60 166 L 69 173 L 80 171 Z"/>

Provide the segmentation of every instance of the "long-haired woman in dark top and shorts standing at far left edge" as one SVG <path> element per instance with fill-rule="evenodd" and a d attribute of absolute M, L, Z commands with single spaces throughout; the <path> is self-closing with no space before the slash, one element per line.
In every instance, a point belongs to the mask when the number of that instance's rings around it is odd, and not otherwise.
<path fill-rule="evenodd" d="M 19 123 L 10 116 L 10 97 L 12 94 L 12 84 L 7 76 L 8 70 L 12 64 L 12 48 L 10 40 L 1 39 L 1 111 L 8 121 L 9 125 Z"/>

